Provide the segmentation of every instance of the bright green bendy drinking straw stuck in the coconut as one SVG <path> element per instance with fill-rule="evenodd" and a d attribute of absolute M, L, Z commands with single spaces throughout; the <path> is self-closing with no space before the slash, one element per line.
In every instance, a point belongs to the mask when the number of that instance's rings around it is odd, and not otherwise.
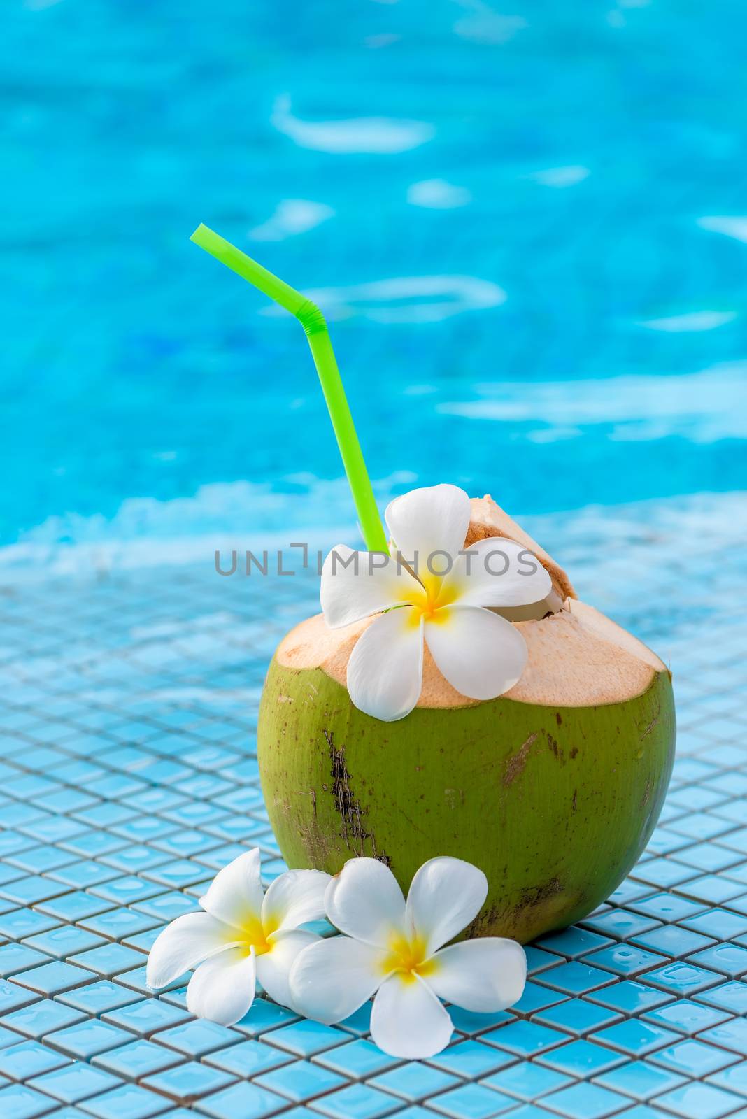
<path fill-rule="evenodd" d="M 350 415 L 348 398 L 342 387 L 342 378 L 334 359 L 334 350 L 324 316 L 316 304 L 302 295 L 300 291 L 295 291 L 290 284 L 268 272 L 267 269 L 263 269 L 262 264 L 257 264 L 240 248 L 236 248 L 212 229 L 208 229 L 206 225 L 198 225 L 189 239 L 204 248 L 206 253 L 215 256 L 226 267 L 233 269 L 244 280 L 248 280 L 250 284 L 280 303 L 281 307 L 284 307 L 286 311 L 296 317 L 303 327 L 342 455 L 348 485 L 356 502 L 366 547 L 369 552 L 388 552 L 386 533 L 376 507 L 371 480 L 368 477 L 363 454 Z"/>

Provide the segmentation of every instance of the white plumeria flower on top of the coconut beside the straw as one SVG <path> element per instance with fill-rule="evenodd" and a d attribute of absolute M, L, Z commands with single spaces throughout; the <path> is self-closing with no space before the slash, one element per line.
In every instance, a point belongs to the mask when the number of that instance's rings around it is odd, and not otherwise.
<path fill-rule="evenodd" d="M 527 646 L 491 608 L 546 598 L 546 570 L 503 537 L 465 549 L 470 498 L 457 486 L 410 490 L 387 506 L 386 521 L 396 555 L 356 554 L 340 544 L 322 568 L 321 604 L 330 628 L 379 615 L 348 661 L 356 707 L 386 722 L 409 714 L 423 688 L 424 641 L 463 696 L 503 695 L 523 673 Z"/>

